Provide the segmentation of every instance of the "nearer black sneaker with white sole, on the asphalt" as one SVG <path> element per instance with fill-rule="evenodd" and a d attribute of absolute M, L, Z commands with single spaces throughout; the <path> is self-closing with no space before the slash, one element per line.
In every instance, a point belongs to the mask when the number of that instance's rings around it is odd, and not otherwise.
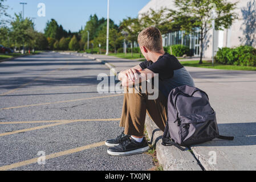
<path fill-rule="evenodd" d="M 109 147 L 108 154 L 110 155 L 133 155 L 147 152 L 149 150 L 148 142 L 143 138 L 142 142 L 136 142 L 135 139 L 129 138 L 118 146 Z"/>

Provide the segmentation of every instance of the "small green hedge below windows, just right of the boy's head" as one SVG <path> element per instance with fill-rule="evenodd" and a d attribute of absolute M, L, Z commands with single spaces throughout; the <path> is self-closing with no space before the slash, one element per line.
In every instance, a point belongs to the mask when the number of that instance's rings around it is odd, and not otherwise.
<path fill-rule="evenodd" d="M 172 48 L 172 53 L 170 52 L 170 47 Z M 181 57 L 183 55 L 192 55 L 192 51 L 189 49 L 188 46 L 184 46 L 181 44 L 173 45 L 173 46 L 164 47 L 164 51 L 168 52 L 174 56 Z"/>

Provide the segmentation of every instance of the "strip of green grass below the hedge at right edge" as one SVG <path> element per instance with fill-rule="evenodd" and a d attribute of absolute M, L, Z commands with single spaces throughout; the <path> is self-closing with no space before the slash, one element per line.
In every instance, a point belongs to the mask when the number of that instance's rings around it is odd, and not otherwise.
<path fill-rule="evenodd" d="M 226 70 L 243 70 L 243 71 L 256 71 L 256 67 L 236 66 L 236 65 L 225 65 L 214 63 L 212 61 L 203 61 L 202 64 L 198 64 L 198 61 L 180 61 L 185 67 L 198 67 L 198 68 L 213 68 L 213 69 L 226 69 Z"/>

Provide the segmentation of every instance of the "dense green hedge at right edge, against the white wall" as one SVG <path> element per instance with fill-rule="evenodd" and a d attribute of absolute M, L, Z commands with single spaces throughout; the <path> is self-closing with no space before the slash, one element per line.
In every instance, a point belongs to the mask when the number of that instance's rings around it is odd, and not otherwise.
<path fill-rule="evenodd" d="M 218 50 L 215 61 L 221 64 L 256 66 L 256 49 L 251 46 L 224 47 Z"/>

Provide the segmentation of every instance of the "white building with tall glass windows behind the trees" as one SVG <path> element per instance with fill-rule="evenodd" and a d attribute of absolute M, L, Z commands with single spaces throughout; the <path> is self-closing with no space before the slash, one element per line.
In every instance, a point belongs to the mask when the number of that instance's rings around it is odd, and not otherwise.
<path fill-rule="evenodd" d="M 230 0 L 234 1 L 234 0 Z M 236 2 L 236 1 L 235 1 Z M 151 0 L 139 11 L 140 14 L 147 13 L 150 9 L 159 10 L 162 7 L 175 10 L 174 0 Z M 237 47 L 241 45 L 250 45 L 256 47 L 256 2 L 255 0 L 238 0 L 235 13 L 238 19 L 233 22 L 230 28 L 223 31 L 214 31 L 214 54 L 218 48 Z M 213 54 L 213 30 L 206 35 L 203 57 L 211 58 Z M 199 41 L 199 32 L 193 35 L 184 36 L 182 31 L 170 31 L 169 34 L 163 35 L 163 46 L 173 44 L 183 44 L 194 50 L 194 56 L 199 56 L 201 46 Z"/>

